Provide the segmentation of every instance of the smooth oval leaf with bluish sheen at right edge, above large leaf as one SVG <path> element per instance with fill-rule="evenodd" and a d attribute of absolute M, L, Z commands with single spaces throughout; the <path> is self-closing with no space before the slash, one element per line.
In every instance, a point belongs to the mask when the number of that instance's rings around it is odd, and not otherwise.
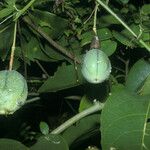
<path fill-rule="evenodd" d="M 143 82 L 150 75 L 150 63 L 144 59 L 138 60 L 131 68 L 127 80 L 126 88 L 131 92 L 138 92 Z"/>

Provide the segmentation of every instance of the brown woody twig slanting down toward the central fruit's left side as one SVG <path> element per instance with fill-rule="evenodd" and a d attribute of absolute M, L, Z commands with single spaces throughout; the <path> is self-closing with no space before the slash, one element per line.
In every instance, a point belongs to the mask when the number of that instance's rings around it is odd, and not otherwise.
<path fill-rule="evenodd" d="M 78 64 L 81 62 L 75 58 L 75 56 L 68 52 L 65 48 L 63 48 L 61 45 L 57 44 L 51 37 L 49 37 L 40 27 L 37 27 L 35 24 L 31 22 L 31 20 L 28 17 L 23 18 L 24 22 L 26 22 L 29 26 L 31 26 L 35 31 L 37 31 L 42 37 L 44 37 L 53 47 L 55 47 L 57 50 L 59 50 L 62 54 L 69 57 L 71 60 L 76 61 Z"/>

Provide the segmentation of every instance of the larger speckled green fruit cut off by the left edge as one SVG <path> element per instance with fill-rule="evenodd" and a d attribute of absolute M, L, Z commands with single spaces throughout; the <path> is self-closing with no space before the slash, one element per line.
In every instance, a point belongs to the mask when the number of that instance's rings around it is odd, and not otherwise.
<path fill-rule="evenodd" d="M 15 70 L 0 71 L 0 114 L 13 114 L 27 98 L 24 77 Z"/>

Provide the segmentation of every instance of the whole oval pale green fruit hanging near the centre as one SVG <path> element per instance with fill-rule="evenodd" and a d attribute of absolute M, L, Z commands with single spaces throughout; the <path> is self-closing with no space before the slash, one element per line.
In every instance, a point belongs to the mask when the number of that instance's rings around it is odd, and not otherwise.
<path fill-rule="evenodd" d="M 99 49 L 89 50 L 83 58 L 81 71 L 88 82 L 94 84 L 103 82 L 111 72 L 108 56 Z"/>

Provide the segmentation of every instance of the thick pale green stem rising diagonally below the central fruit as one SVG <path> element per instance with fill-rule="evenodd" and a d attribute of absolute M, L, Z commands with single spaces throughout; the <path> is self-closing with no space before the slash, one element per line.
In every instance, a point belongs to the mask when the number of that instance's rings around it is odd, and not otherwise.
<path fill-rule="evenodd" d="M 90 114 L 92 114 L 94 112 L 102 110 L 103 107 L 104 107 L 104 103 L 95 102 L 94 105 L 91 106 L 90 108 L 82 111 L 81 113 L 78 113 L 77 115 L 75 115 L 74 117 L 70 118 L 69 120 L 67 120 L 66 122 L 64 122 L 62 125 L 60 125 L 56 129 L 54 129 L 51 132 L 51 134 L 60 134 L 60 133 L 62 133 L 65 129 L 67 129 L 68 127 L 70 127 L 71 125 L 73 125 L 78 120 L 80 120 L 83 117 L 85 117 L 87 115 L 90 115 Z"/>

